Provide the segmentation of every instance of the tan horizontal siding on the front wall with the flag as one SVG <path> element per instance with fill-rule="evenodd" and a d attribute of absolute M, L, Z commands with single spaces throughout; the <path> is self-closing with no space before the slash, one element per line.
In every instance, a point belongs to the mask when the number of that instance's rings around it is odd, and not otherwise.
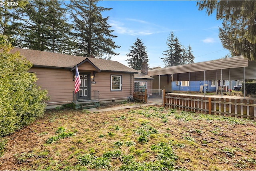
<path fill-rule="evenodd" d="M 83 64 L 81 66 L 83 66 Z M 30 72 L 35 72 L 38 78 L 36 83 L 40 85 L 42 89 L 48 90 L 48 96 L 51 98 L 47 101 L 48 105 L 61 104 L 61 101 L 73 100 L 73 72 L 70 72 L 69 70 L 38 67 L 31 68 Z M 84 70 L 81 68 L 79 72 L 82 73 Z M 92 72 L 89 73 L 92 74 Z M 122 91 L 110 90 L 111 75 L 122 76 Z M 90 84 L 92 98 L 93 90 L 99 91 L 99 98 L 101 100 L 127 99 L 127 97 L 134 91 L 134 74 L 100 72 L 96 73 L 94 81 L 96 84 Z"/>

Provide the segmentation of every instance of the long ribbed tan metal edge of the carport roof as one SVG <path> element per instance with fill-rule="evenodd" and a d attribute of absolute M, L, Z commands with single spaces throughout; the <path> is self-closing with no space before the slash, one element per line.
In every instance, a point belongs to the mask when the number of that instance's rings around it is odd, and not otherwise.
<path fill-rule="evenodd" d="M 248 60 L 243 56 L 235 56 L 230 58 L 222 58 L 206 62 L 198 62 L 193 64 L 184 64 L 180 66 L 166 67 L 156 70 L 148 70 L 148 76 L 177 74 L 186 72 L 199 72 L 209 70 L 221 70 L 228 68 L 248 67 Z"/>

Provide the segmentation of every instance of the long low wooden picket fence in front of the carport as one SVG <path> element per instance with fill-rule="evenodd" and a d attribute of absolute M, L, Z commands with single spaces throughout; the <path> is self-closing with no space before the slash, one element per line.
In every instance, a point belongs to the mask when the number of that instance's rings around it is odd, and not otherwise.
<path fill-rule="evenodd" d="M 180 110 L 256 119 L 256 100 L 166 95 L 166 107 Z M 210 111 L 210 112 L 209 112 Z"/>

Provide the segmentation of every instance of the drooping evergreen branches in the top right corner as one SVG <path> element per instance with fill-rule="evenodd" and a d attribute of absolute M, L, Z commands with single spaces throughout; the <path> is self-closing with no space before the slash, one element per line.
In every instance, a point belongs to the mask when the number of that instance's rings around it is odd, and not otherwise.
<path fill-rule="evenodd" d="M 234 53 L 256 61 L 256 1 L 199 1 L 199 10 L 216 12 L 231 30 L 226 34 Z"/>

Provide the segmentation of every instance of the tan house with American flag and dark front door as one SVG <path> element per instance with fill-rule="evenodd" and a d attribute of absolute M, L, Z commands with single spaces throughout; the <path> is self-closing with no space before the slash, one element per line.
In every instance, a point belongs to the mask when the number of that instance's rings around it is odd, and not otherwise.
<path fill-rule="evenodd" d="M 134 74 L 138 71 L 117 61 L 20 48 L 11 50 L 16 51 L 33 64 L 29 72 L 34 72 L 37 84 L 48 90 L 47 108 L 78 101 L 120 101 L 134 92 Z M 76 65 L 81 85 L 75 94 Z"/>

